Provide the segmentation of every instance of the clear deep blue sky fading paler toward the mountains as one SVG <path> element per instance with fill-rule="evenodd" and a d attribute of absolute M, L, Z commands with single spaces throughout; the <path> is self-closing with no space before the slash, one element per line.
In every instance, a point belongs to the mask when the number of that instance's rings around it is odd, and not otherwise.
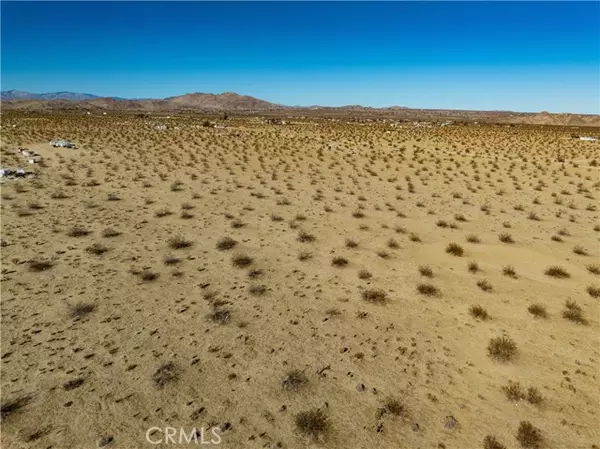
<path fill-rule="evenodd" d="M 600 113 L 598 2 L 1 8 L 2 90 Z"/>

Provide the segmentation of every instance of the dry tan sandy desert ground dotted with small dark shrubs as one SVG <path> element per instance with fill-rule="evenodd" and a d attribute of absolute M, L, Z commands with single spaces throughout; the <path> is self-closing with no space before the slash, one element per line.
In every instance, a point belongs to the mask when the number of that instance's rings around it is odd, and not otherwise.
<path fill-rule="evenodd" d="M 3 448 L 600 446 L 598 142 L 203 120 L 3 117 Z"/>

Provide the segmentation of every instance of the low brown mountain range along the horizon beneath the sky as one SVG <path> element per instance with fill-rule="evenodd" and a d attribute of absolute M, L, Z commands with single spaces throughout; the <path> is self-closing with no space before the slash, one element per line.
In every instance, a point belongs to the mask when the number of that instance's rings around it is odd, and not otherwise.
<path fill-rule="evenodd" d="M 277 113 L 281 115 L 334 115 L 340 117 L 390 117 L 397 120 L 481 121 L 494 123 L 597 126 L 599 115 L 526 113 L 510 111 L 460 111 L 448 109 L 411 109 L 402 106 L 372 108 L 349 106 L 285 106 L 233 92 L 191 93 L 164 99 L 125 99 L 99 97 L 75 92 L 34 94 L 18 90 L 1 92 L 3 110 L 19 111 L 117 111 L 162 113 L 179 111 Z"/>

